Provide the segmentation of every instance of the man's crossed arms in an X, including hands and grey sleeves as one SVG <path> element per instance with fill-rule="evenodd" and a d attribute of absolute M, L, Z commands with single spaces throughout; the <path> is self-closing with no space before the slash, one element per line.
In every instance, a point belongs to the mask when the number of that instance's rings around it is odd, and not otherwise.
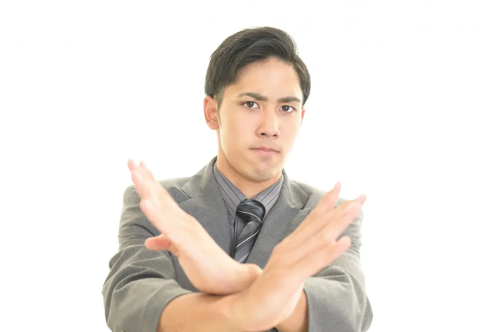
<path fill-rule="evenodd" d="M 109 262 L 102 291 L 112 331 L 369 328 L 372 311 L 359 262 L 360 206 L 365 197 L 336 206 L 337 184 L 274 247 L 261 270 L 229 257 L 175 204 L 145 165 L 130 161 L 128 166 L 135 187 L 124 195 L 119 252 Z M 200 293 L 176 282 L 169 252 Z"/>

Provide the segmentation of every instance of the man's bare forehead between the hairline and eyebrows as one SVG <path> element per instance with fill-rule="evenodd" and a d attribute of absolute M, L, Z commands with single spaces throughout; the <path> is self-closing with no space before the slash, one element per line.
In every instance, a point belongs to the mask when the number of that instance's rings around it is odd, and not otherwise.
<path fill-rule="evenodd" d="M 274 58 L 253 62 L 240 70 L 236 82 L 226 89 L 225 95 L 240 92 L 255 92 L 269 98 L 295 96 L 302 100 L 297 72 L 292 65 Z"/>

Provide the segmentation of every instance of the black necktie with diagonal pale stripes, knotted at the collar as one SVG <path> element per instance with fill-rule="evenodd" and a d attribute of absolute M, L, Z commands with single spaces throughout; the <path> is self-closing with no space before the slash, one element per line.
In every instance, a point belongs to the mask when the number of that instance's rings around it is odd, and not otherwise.
<path fill-rule="evenodd" d="M 264 218 L 264 206 L 254 200 L 243 200 L 237 207 L 237 216 L 245 221 L 244 230 L 237 239 L 237 247 L 235 249 L 235 260 L 240 263 L 245 263 L 248 254 L 252 249 L 253 243 L 257 238 L 262 219 Z"/>

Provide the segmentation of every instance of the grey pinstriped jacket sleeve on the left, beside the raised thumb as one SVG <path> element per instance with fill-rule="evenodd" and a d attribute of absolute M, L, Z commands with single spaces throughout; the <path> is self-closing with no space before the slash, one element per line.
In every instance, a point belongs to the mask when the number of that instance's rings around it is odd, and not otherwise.
<path fill-rule="evenodd" d="M 119 250 L 109 261 L 102 289 L 105 319 L 113 332 L 157 332 L 166 305 L 191 293 L 174 280 L 169 253 L 145 247 L 145 239 L 159 231 L 142 213 L 139 202 L 134 186 L 128 187 L 119 222 Z"/>

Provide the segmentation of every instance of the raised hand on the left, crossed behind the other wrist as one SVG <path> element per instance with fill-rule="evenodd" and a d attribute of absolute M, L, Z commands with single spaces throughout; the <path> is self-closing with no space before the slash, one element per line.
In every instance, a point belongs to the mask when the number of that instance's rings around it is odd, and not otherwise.
<path fill-rule="evenodd" d="M 176 204 L 143 163 L 137 166 L 130 161 L 128 167 L 142 198 L 142 211 L 162 233 L 147 239 L 147 248 L 176 255 L 192 285 L 201 292 L 223 295 L 248 288 L 260 269 L 228 256 L 201 224 Z"/>

